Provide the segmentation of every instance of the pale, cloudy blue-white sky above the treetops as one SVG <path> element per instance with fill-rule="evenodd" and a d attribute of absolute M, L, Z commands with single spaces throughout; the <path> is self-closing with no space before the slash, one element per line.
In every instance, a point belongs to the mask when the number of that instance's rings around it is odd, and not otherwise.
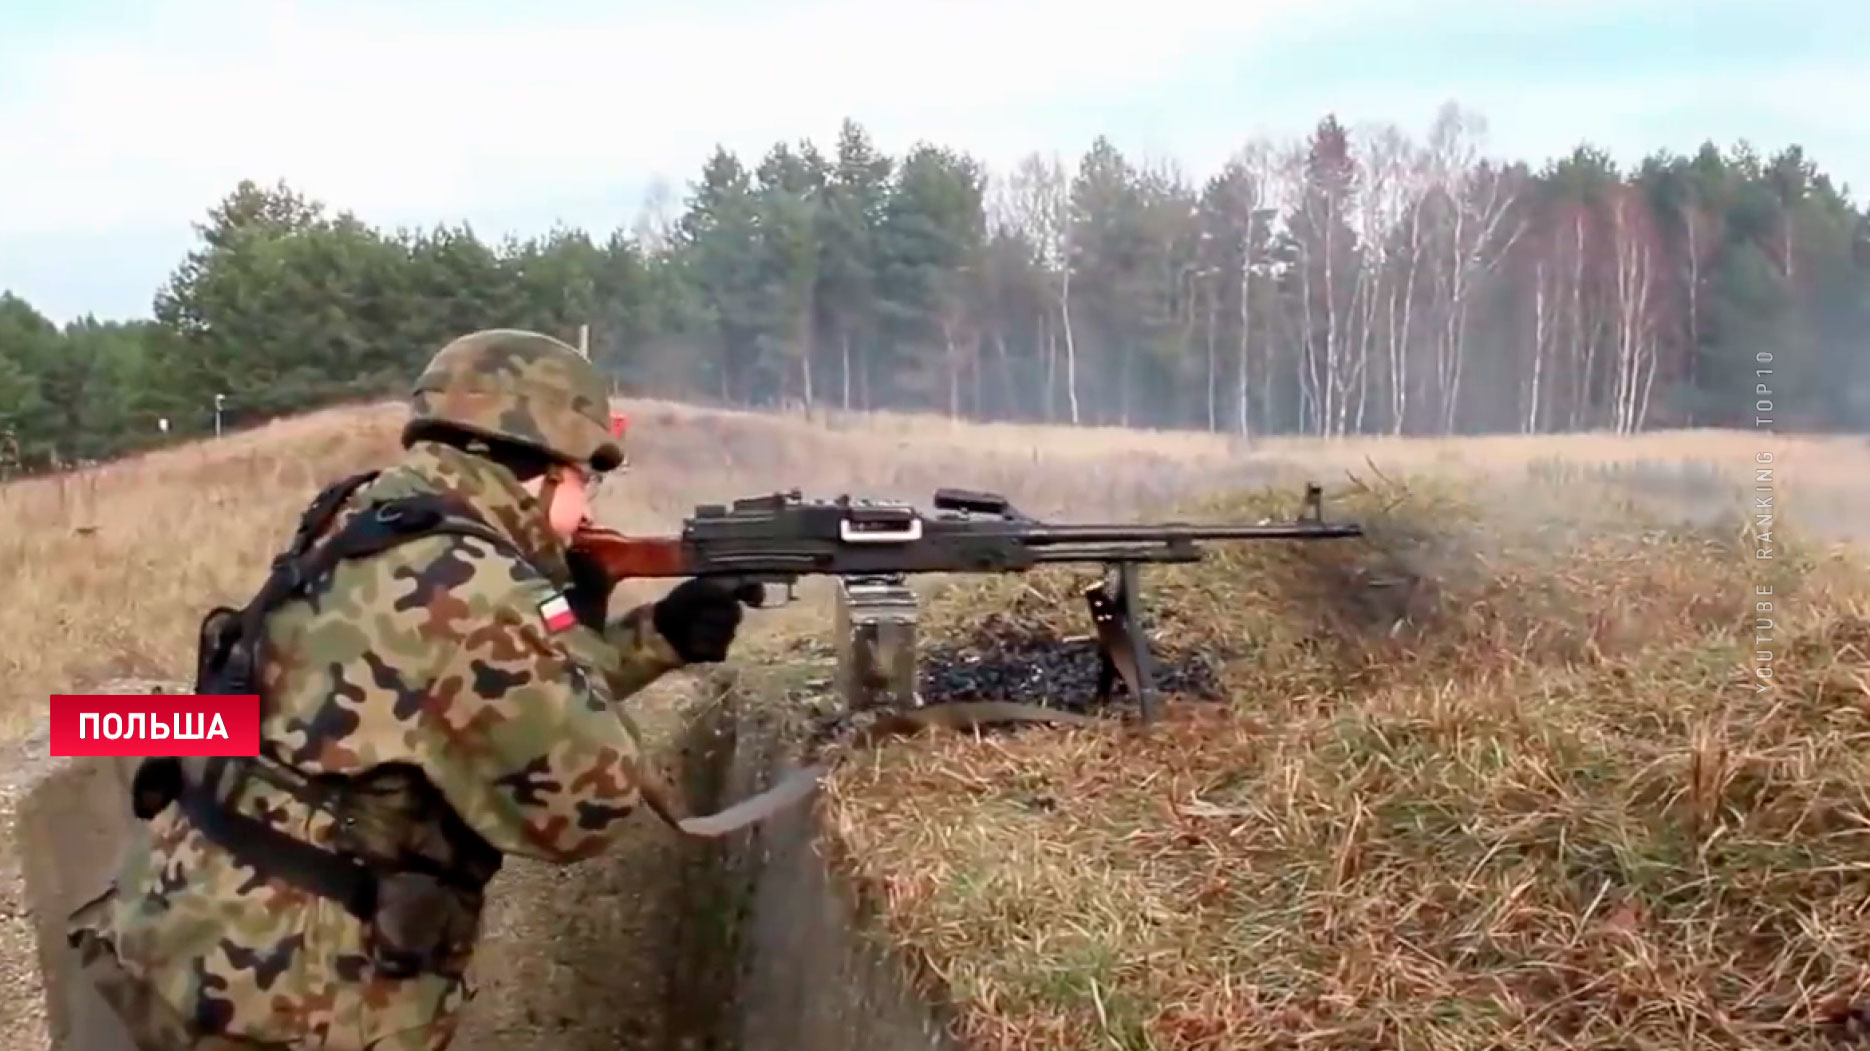
<path fill-rule="evenodd" d="M 1799 142 L 1870 191 L 1863 0 L 0 0 L 0 290 L 148 316 L 191 223 L 284 178 L 380 226 L 628 226 L 714 142 L 916 138 L 1004 170 L 1094 135 L 1206 178 L 1249 137 Z"/>

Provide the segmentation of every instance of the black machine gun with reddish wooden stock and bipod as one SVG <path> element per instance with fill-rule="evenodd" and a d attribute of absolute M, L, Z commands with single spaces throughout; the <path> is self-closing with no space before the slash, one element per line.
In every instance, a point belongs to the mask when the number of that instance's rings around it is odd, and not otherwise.
<path fill-rule="evenodd" d="M 1154 716 L 1148 645 L 1137 625 L 1141 563 L 1195 563 L 1202 540 L 1320 540 L 1363 529 L 1324 520 L 1322 490 L 1305 486 L 1305 512 L 1257 526 L 1051 524 L 1014 509 L 1004 496 L 942 488 L 935 512 L 913 505 L 840 496 L 808 501 L 798 490 L 701 505 L 679 537 L 625 537 L 587 524 L 572 546 L 613 580 L 712 576 L 727 583 L 782 585 L 787 600 L 802 576 L 840 576 L 845 587 L 898 587 L 916 572 L 1027 572 L 1040 565 L 1101 563 L 1103 580 L 1085 589 L 1096 626 L 1098 698 L 1122 675 L 1144 724 Z M 765 595 L 765 587 L 757 589 Z M 905 589 L 901 589 L 905 591 Z M 761 602 L 754 602 L 761 606 Z"/>

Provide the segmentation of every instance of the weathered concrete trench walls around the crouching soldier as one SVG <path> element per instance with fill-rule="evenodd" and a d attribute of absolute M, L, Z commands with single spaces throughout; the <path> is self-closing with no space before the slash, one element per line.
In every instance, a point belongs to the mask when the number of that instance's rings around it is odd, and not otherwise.
<path fill-rule="evenodd" d="M 759 791 L 787 752 L 784 705 L 718 675 L 692 716 L 645 720 L 677 746 L 698 810 Z M 144 692 L 127 688 L 120 692 Z M 688 705 L 686 711 L 696 711 Z M 127 761 L 49 759 L 13 774 L 0 924 L 0 1051 L 129 1051 L 69 978 L 65 914 L 99 892 L 137 821 Z M 959 1051 L 860 929 L 798 806 L 720 840 L 679 840 L 643 813 L 619 851 L 555 868 L 509 858 L 496 879 L 458 1051 Z M 21 980 L 13 980 L 15 972 Z"/>

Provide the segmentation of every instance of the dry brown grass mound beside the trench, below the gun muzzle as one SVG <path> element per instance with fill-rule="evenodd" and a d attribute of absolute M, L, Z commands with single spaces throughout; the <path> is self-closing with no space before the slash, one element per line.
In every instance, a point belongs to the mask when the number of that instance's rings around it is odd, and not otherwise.
<path fill-rule="evenodd" d="M 991 1051 L 1863 1042 L 1870 578 L 1621 488 L 1373 481 L 1369 542 L 1158 570 L 1232 705 L 873 752 L 828 847 Z"/>

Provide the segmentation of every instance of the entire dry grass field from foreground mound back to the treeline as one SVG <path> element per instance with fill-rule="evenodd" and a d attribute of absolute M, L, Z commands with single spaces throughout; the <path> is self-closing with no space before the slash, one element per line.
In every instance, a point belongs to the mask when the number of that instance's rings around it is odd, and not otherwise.
<path fill-rule="evenodd" d="M 828 845 L 978 1047 L 1866 1040 L 1870 585 L 1853 546 L 1818 546 L 1855 537 L 1861 439 L 1249 447 L 625 408 L 636 466 L 598 512 L 628 529 L 791 486 L 1259 516 L 1305 477 L 1371 529 L 1150 572 L 1156 645 L 1204 655 L 1229 703 L 1172 703 L 1148 737 L 937 735 L 838 772 Z M 318 413 L 0 488 L 4 731 L 50 692 L 180 677 L 198 612 L 245 597 L 320 484 L 387 460 L 398 419 Z M 1760 539 L 1743 514 L 1765 496 Z M 989 608 L 1083 632 L 1070 580 L 956 582 L 928 632 L 965 641 Z M 827 628 L 813 602 L 754 613 L 742 660 Z"/>

